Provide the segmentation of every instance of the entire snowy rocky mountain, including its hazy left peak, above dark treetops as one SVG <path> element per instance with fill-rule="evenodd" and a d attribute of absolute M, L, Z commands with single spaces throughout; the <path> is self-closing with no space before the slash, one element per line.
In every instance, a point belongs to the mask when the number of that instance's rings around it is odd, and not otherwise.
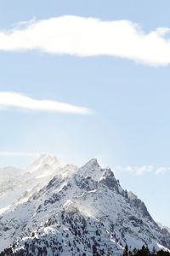
<path fill-rule="evenodd" d="M 78 168 L 43 156 L 22 177 L 23 186 L 26 180 L 29 184 L 26 199 L 17 195 L 0 215 L 1 251 L 90 256 L 121 254 L 126 244 L 170 249 L 170 233 L 156 224 L 143 201 L 122 189 L 110 168 L 100 167 L 95 159 Z"/>

